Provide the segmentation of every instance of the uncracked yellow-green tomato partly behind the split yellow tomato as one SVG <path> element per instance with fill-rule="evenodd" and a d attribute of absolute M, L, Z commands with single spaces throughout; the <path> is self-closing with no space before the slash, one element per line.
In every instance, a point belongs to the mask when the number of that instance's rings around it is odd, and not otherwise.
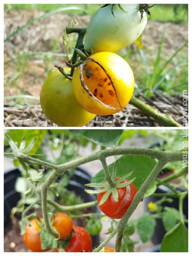
<path fill-rule="evenodd" d="M 64 69 L 70 71 L 70 68 Z M 72 81 L 59 70 L 54 71 L 45 80 L 40 103 L 45 116 L 59 126 L 83 126 L 95 116 L 77 102 Z"/>

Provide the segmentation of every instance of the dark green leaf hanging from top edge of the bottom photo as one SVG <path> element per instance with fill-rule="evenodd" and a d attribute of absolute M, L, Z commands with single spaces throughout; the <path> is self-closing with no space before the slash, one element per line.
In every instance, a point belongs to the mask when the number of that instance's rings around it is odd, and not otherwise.
<path fill-rule="evenodd" d="M 82 135 L 104 147 L 115 148 L 121 138 L 123 130 L 69 130 L 73 135 Z"/>

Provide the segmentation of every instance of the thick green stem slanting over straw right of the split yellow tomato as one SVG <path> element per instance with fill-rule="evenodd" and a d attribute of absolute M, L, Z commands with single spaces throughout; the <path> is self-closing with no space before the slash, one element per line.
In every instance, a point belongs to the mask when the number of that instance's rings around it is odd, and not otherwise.
<path fill-rule="evenodd" d="M 168 127 L 180 127 L 181 125 L 178 124 L 176 121 L 174 121 L 171 116 L 168 114 L 163 114 L 154 108 L 150 107 L 149 105 L 143 103 L 141 100 L 135 98 L 132 96 L 131 100 L 129 101 L 130 104 L 135 106 L 136 108 L 139 108 L 143 113 L 145 113 L 148 116 L 153 117 L 158 124 L 162 126 L 168 126 Z"/>

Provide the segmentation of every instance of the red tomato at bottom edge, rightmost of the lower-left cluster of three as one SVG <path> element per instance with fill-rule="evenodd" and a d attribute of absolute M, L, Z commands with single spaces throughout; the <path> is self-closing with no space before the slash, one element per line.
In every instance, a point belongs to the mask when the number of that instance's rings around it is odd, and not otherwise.
<path fill-rule="evenodd" d="M 92 250 L 92 238 L 89 232 L 82 227 L 73 227 L 75 233 L 71 237 L 69 246 L 65 249 L 66 252 L 91 252 Z M 59 252 L 56 248 L 55 252 Z"/>

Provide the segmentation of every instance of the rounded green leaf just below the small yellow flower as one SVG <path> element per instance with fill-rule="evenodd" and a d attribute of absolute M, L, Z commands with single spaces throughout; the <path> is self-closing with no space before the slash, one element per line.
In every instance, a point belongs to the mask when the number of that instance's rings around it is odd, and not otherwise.
<path fill-rule="evenodd" d="M 137 221 L 137 229 L 140 239 L 143 243 L 146 243 L 151 239 L 154 234 L 156 221 L 152 218 L 151 214 L 145 213 Z"/>

